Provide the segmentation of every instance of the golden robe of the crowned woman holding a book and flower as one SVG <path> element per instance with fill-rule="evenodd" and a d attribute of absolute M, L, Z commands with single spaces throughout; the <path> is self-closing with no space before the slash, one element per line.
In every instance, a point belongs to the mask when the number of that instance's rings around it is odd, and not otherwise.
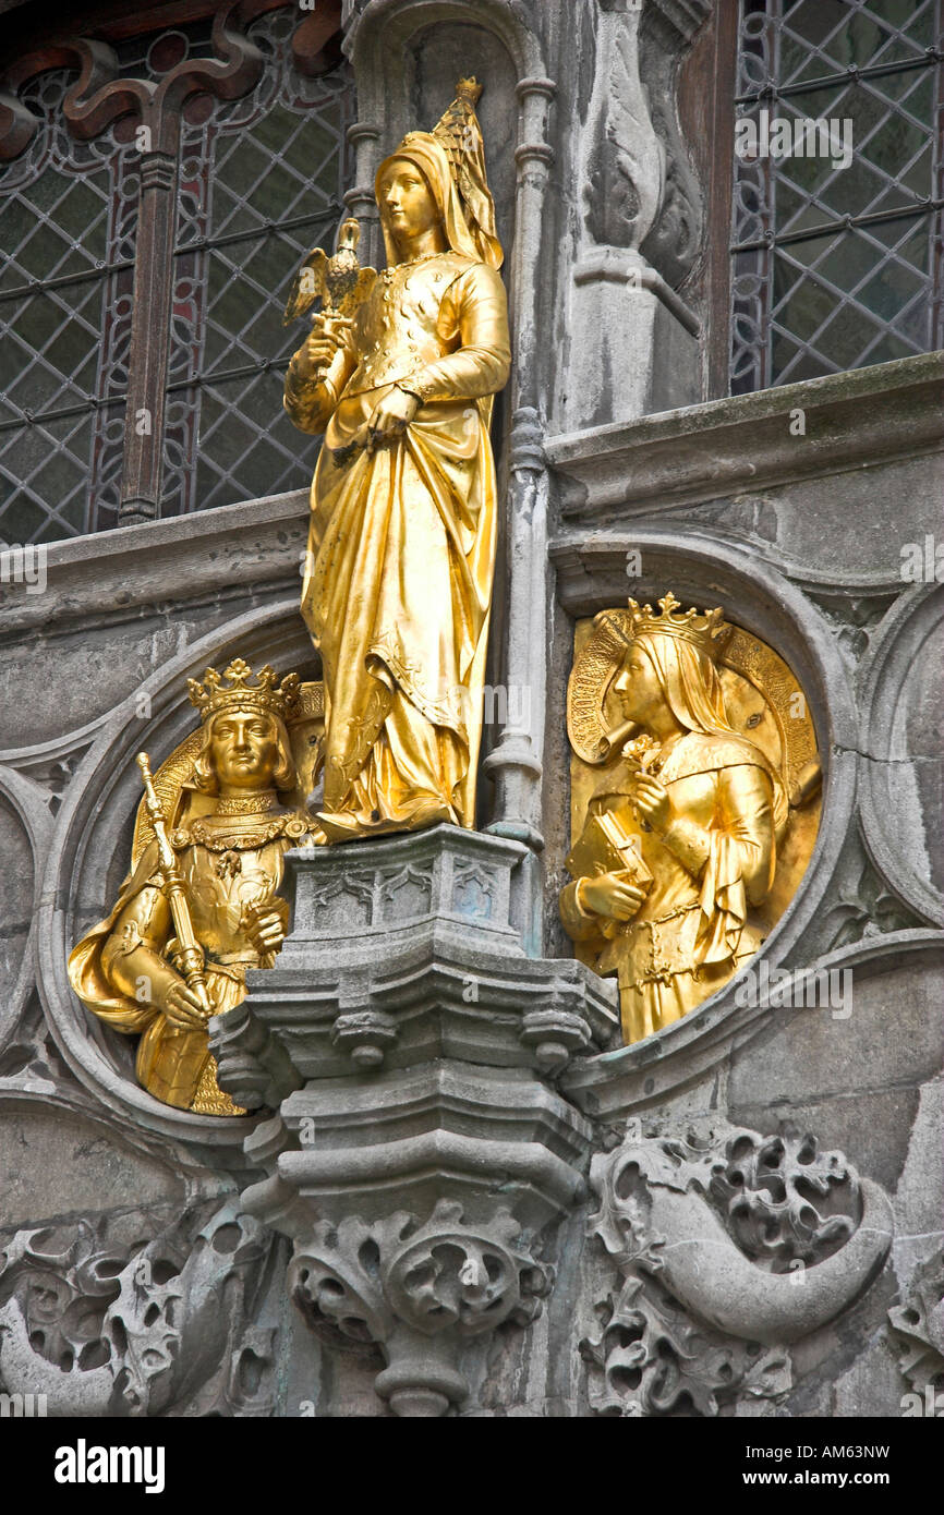
<path fill-rule="evenodd" d="M 561 894 L 571 939 L 599 954 L 599 973 L 618 976 L 626 1042 L 680 1020 L 758 951 L 750 906 L 767 897 L 776 867 L 771 780 L 749 741 L 689 732 L 658 779 L 677 817 L 664 836 L 639 826 L 629 773 L 589 806 L 615 812 L 653 874 L 636 915 L 617 924 L 583 911 L 579 879 Z"/>

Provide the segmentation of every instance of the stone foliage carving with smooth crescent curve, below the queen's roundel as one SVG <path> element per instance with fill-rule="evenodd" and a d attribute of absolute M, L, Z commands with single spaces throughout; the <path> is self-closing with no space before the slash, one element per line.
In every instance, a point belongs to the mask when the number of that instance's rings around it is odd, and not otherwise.
<path fill-rule="evenodd" d="M 591 1407 L 712 1417 L 780 1400 L 786 1344 L 832 1320 L 883 1260 L 885 1195 L 812 1136 L 627 1130 L 591 1168 L 589 1235 L 617 1270 L 597 1301 L 602 1329 L 580 1344 Z"/>

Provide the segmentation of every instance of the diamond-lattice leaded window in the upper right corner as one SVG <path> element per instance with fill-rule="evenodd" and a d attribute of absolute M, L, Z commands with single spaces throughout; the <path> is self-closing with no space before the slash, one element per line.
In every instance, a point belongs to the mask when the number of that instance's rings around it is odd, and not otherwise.
<path fill-rule="evenodd" d="M 941 0 L 741 0 L 739 118 L 853 156 L 735 159 L 733 394 L 944 345 L 939 35 Z"/>

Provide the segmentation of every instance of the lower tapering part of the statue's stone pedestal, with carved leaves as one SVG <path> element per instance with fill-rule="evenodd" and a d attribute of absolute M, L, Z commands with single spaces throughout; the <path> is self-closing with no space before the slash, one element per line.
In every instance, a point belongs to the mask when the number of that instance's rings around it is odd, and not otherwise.
<path fill-rule="evenodd" d="M 444 1415 L 470 1392 L 468 1338 L 538 1314 L 553 1279 L 541 1253 L 585 1194 L 589 1142 L 515 1070 L 312 1079 L 247 1139 L 268 1177 L 242 1206 L 292 1239 L 286 1288 L 309 1326 L 336 1348 L 380 1348 L 376 1389 L 395 1415 Z"/>

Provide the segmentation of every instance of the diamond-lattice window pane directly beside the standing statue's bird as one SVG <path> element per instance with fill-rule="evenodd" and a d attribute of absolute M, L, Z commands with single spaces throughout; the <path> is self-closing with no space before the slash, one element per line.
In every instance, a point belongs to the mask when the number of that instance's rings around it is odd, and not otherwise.
<path fill-rule="evenodd" d="M 164 515 L 311 479 L 312 442 L 282 408 L 303 327 L 283 327 L 282 311 L 300 261 L 333 245 L 355 98 L 345 64 L 317 79 L 294 71 L 295 26 L 291 9 L 259 18 L 259 85 L 183 133 Z"/>

